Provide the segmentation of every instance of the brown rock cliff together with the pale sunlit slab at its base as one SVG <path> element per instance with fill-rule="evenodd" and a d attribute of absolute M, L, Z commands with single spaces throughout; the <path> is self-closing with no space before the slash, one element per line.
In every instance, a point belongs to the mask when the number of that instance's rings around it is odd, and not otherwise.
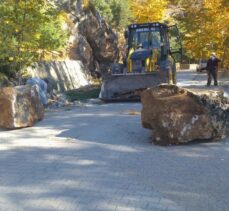
<path fill-rule="evenodd" d="M 63 92 L 90 84 L 90 76 L 107 73 L 118 60 L 118 38 L 93 8 L 83 0 L 53 0 L 70 17 L 68 61 L 38 62 L 28 68 L 32 77 L 47 78 L 51 90 Z"/>

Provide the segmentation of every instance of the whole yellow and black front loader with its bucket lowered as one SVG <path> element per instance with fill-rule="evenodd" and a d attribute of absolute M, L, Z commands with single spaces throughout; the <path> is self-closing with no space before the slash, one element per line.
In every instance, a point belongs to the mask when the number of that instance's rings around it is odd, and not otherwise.
<path fill-rule="evenodd" d="M 126 58 L 104 78 L 104 101 L 139 100 L 139 93 L 161 83 L 176 83 L 176 65 L 182 45 L 176 26 L 162 23 L 132 24 L 125 32 Z"/>

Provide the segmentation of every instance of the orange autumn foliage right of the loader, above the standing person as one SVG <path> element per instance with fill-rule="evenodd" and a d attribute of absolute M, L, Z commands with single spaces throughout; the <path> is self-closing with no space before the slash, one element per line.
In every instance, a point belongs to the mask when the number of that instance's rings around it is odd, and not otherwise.
<path fill-rule="evenodd" d="M 180 24 L 184 30 L 184 44 L 193 58 L 208 57 L 215 51 L 225 57 L 229 34 L 229 7 L 224 0 L 203 0 L 199 4 L 186 1 Z M 187 35 L 187 36 L 185 36 Z M 226 57 L 225 57 L 226 58 Z"/>

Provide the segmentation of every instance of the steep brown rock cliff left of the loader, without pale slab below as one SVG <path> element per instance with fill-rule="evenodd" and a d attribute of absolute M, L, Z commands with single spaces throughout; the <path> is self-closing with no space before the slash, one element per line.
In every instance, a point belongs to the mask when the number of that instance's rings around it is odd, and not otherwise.
<path fill-rule="evenodd" d="M 103 73 L 118 60 L 118 38 L 93 8 L 84 9 L 83 0 L 57 1 L 70 16 L 70 59 L 81 60 L 92 74 Z"/>

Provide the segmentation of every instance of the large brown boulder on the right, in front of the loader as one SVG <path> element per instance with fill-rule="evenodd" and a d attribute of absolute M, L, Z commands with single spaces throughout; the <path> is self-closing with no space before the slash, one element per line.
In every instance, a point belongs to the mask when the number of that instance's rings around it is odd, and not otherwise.
<path fill-rule="evenodd" d="M 142 125 L 160 145 L 219 140 L 229 120 L 229 101 L 221 91 L 161 85 L 142 92 Z"/>

